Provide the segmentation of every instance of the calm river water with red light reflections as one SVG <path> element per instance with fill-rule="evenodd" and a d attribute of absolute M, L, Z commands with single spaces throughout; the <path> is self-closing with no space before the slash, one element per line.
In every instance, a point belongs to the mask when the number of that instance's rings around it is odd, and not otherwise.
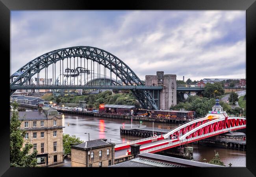
<path fill-rule="evenodd" d="M 27 109 L 27 111 L 33 111 L 34 109 Z M 62 119 L 63 133 L 69 135 L 75 135 L 83 141 L 88 140 L 88 134 L 90 134 L 90 140 L 106 138 L 115 144 L 129 142 L 140 139 L 141 137 L 120 135 L 120 126 L 131 126 L 130 120 L 112 119 L 112 118 L 100 118 L 100 117 L 88 117 L 81 115 L 65 114 Z M 133 120 L 132 125 L 139 125 L 140 122 Z M 142 122 L 141 125 L 147 125 L 152 127 L 152 122 Z M 176 124 L 164 124 L 154 123 L 154 128 L 173 129 Z M 231 162 L 232 167 L 246 167 L 246 151 L 225 149 L 219 147 L 203 146 L 190 144 L 193 147 L 193 158 L 195 161 L 203 162 L 205 158 L 209 162 L 215 156 L 214 150 L 219 153 L 220 159 L 226 166 Z"/>

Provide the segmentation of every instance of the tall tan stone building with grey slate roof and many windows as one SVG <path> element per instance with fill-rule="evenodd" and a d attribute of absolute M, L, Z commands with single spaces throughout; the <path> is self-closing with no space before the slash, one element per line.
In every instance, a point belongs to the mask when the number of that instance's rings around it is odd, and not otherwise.
<path fill-rule="evenodd" d="M 12 112 L 11 112 L 12 115 Z M 10 117 L 11 117 L 10 115 Z M 37 150 L 37 164 L 50 165 L 63 161 L 62 116 L 56 109 L 43 107 L 40 111 L 19 112 L 20 129 L 25 130 L 24 144 Z"/>

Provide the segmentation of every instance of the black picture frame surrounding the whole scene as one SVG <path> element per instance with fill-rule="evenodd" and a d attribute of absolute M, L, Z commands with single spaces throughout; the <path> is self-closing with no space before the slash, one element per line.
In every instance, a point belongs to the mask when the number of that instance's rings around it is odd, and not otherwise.
<path fill-rule="evenodd" d="M 255 56 L 255 34 L 256 34 L 256 2 L 255 0 L 129 0 L 119 3 L 114 1 L 85 1 L 85 0 L 0 0 L 0 38 L 2 70 L 8 68 L 7 59 L 10 59 L 10 11 L 11 10 L 246 10 L 246 70 L 247 70 L 247 92 L 253 93 L 252 61 Z M 4 54 L 4 55 L 3 55 Z M 4 62 L 4 61 L 7 62 Z M 10 72 L 10 71 L 9 71 Z M 250 74 L 252 72 L 252 74 Z M 2 73 L 4 73 L 2 71 Z M 7 87 L 9 80 L 3 75 Z M 10 73 L 11 75 L 11 73 Z M 8 83 L 7 83 L 8 82 Z M 9 96 L 2 90 L 3 102 L 9 100 Z M 6 88 L 7 91 L 7 88 Z M 181 175 L 181 176 L 218 176 L 218 177 L 249 177 L 256 175 L 256 144 L 252 112 L 252 97 L 247 96 L 247 155 L 246 168 L 10 168 L 9 167 L 9 115 L 2 116 L 2 127 L 0 129 L 0 175 L 1 176 L 47 176 L 56 173 L 65 175 L 71 171 L 74 175 L 99 175 L 102 176 L 131 176 L 143 175 Z M 252 103 L 252 104 L 250 104 Z M 4 105 L 4 115 L 9 110 L 9 105 Z M 89 173 L 89 171 L 90 173 Z M 79 175 L 79 176 L 80 176 Z"/>

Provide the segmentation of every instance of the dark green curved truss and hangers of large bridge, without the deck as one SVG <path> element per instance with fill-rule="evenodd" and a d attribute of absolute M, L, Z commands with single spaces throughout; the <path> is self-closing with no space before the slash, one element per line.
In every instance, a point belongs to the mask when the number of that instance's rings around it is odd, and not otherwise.
<path fill-rule="evenodd" d="M 73 58 L 73 59 L 72 59 Z M 80 58 L 80 59 L 79 59 Z M 67 60 L 64 61 L 64 59 Z M 88 65 L 88 60 L 89 62 Z M 80 62 L 79 62 L 80 61 Z M 62 63 L 62 67 L 61 67 Z M 97 73 L 95 73 L 96 65 L 97 65 Z M 74 64 L 74 65 L 73 65 Z M 80 66 L 79 66 L 80 64 Z M 83 64 L 83 65 L 82 65 Z M 49 67 L 52 65 L 52 67 Z M 56 66 L 57 65 L 57 66 Z M 51 52 L 47 52 L 39 57 L 36 57 L 32 61 L 26 63 L 26 65 L 22 66 L 17 72 L 10 76 L 10 95 L 15 92 L 15 86 L 22 86 L 22 85 L 33 85 L 33 76 L 37 75 L 37 84 L 39 85 L 39 75 L 40 77 L 45 74 L 45 85 L 48 85 L 48 74 L 52 77 L 52 83 L 50 85 L 64 85 L 64 72 L 69 71 L 65 70 L 64 66 L 70 68 L 70 72 L 68 72 L 69 76 L 71 74 L 78 71 L 78 68 L 82 67 L 87 71 L 87 73 L 91 73 L 91 81 L 95 80 L 95 74 L 100 75 L 100 68 L 103 67 L 104 76 L 106 76 L 107 69 L 109 71 L 109 77 L 112 79 L 115 77 L 117 81 L 118 78 L 121 81 L 121 85 L 135 85 L 135 86 L 144 86 L 143 82 L 139 79 L 139 77 L 131 70 L 131 68 L 126 65 L 121 59 L 117 58 L 115 55 L 106 52 L 105 50 L 90 47 L 90 46 L 76 46 L 76 47 L 69 47 L 69 48 L 62 48 L 58 50 L 53 50 Z M 85 67 L 86 66 L 86 67 Z M 91 68 L 89 67 L 91 66 Z M 99 68 L 99 70 L 98 70 Z M 50 72 L 48 72 L 48 69 Z M 71 69 L 74 72 L 71 73 Z M 42 74 L 41 71 L 45 70 Z M 56 75 L 57 72 L 57 75 Z M 81 69 L 80 69 L 81 72 Z M 102 71 L 101 71 L 102 72 Z M 66 72 L 67 73 L 67 72 Z M 84 78 L 82 79 L 82 75 Z M 77 81 L 74 79 L 72 85 L 79 85 L 78 77 L 80 77 L 80 85 L 81 82 L 84 80 L 84 85 L 86 85 L 85 78 L 87 75 L 87 83 L 88 83 L 88 74 L 80 73 L 80 76 L 77 76 Z M 57 81 L 56 81 L 57 76 Z M 92 78 L 93 76 L 93 78 Z M 47 82 L 46 82 L 47 81 Z M 59 82 L 60 81 L 60 84 Z M 76 82 L 76 83 L 75 83 Z M 71 85 L 71 78 L 67 77 L 67 83 Z M 93 82 L 91 82 L 93 83 Z M 65 81 L 66 85 L 66 81 Z M 18 87 L 17 87 L 18 88 Z M 131 90 L 141 106 L 146 109 L 156 109 L 158 110 L 158 105 L 156 104 L 154 98 L 150 94 L 150 91 L 147 89 L 140 89 L 140 90 Z"/>

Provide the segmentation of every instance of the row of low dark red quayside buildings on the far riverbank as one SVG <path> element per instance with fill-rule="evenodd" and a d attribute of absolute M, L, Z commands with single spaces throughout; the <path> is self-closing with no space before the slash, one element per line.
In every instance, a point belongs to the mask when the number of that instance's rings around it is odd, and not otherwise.
<path fill-rule="evenodd" d="M 165 118 L 173 120 L 193 120 L 195 118 L 195 111 L 178 110 L 148 110 L 135 109 L 133 105 L 109 105 L 100 104 L 99 113 L 108 114 L 128 114 L 133 116 L 143 116 L 151 118 Z"/>

